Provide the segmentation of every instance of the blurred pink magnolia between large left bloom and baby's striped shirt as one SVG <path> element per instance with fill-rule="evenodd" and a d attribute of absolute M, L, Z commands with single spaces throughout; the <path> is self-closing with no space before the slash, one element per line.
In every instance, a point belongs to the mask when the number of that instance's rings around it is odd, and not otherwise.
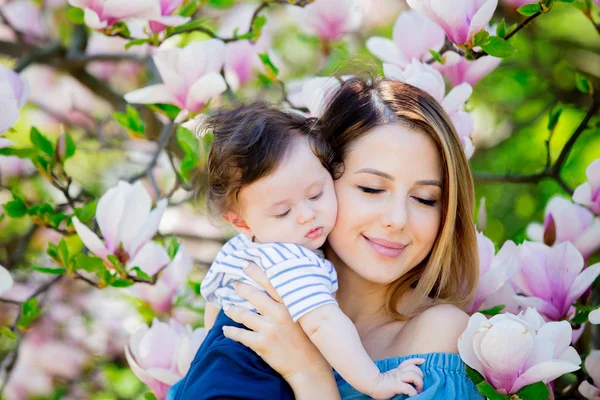
<path fill-rule="evenodd" d="M 173 307 L 173 300 L 184 288 L 187 276 L 192 270 L 193 260 L 182 244 L 173 261 L 160 273 L 154 285 L 138 283 L 131 292 L 146 301 L 157 313 L 166 313 Z M 150 271 L 154 274 L 157 271 Z"/>

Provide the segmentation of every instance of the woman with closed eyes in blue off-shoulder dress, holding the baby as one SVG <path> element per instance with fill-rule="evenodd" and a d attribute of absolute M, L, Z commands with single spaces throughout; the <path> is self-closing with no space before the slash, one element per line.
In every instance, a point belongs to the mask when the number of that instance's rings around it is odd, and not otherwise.
<path fill-rule="evenodd" d="M 457 354 L 468 320 L 459 307 L 475 290 L 478 256 L 473 182 L 448 116 L 415 87 L 353 78 L 342 84 L 318 124 L 339 165 L 338 216 L 325 255 L 338 273 L 342 311 L 382 371 L 409 357 L 425 358 L 418 398 L 482 398 Z M 225 336 L 260 355 L 296 398 L 336 398 L 331 369 L 276 301 L 265 276 L 248 272 L 275 300 L 239 285 L 260 315 L 228 308 L 227 316 L 250 330 L 225 327 Z M 198 367 L 192 364 L 191 371 Z M 241 384 L 226 376 L 212 379 L 233 388 Z M 365 398 L 335 379 L 343 399 Z M 201 387 L 193 390 L 202 397 Z M 253 387 L 255 398 L 275 397 L 260 391 L 260 384 Z M 231 393 L 223 397 L 235 397 Z"/>

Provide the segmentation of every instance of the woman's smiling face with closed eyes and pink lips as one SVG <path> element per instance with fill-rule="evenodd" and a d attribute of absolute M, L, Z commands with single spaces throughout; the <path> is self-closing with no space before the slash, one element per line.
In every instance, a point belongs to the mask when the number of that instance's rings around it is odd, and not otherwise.
<path fill-rule="evenodd" d="M 337 222 L 328 241 L 370 282 L 390 284 L 431 251 L 442 213 L 442 169 L 431 137 L 402 125 L 358 139 L 335 181 Z"/>

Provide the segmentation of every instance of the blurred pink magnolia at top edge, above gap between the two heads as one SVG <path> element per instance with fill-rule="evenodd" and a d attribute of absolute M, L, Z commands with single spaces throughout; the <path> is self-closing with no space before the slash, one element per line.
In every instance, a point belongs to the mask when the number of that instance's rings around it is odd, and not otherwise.
<path fill-rule="evenodd" d="M 300 24 L 323 40 L 339 40 L 360 26 L 360 8 L 352 0 L 315 0 L 300 10 Z"/>

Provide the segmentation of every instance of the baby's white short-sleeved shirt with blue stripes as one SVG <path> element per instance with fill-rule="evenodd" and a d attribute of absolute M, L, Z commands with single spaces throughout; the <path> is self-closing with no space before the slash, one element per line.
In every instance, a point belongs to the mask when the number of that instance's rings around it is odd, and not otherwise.
<path fill-rule="evenodd" d="M 248 261 L 265 271 L 294 322 L 322 305 L 337 304 L 333 297 L 337 275 L 329 261 L 297 244 L 253 243 L 242 234 L 229 240 L 217 254 L 202 280 L 202 297 L 219 307 L 229 304 L 256 312 L 233 288 L 234 282 L 241 281 L 264 291 L 244 272 Z"/>

